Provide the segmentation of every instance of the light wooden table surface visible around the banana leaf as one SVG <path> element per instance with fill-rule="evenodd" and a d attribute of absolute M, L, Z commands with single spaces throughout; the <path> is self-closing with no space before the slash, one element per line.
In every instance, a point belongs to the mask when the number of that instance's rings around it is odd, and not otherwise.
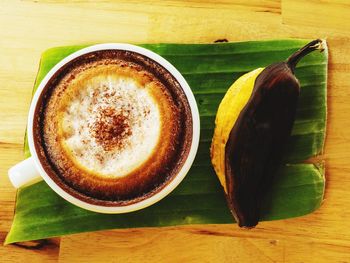
<path fill-rule="evenodd" d="M 318 1 L 15 1 L 0 3 L 0 242 L 16 191 L 7 179 L 42 51 L 100 42 L 210 43 L 327 38 L 330 49 L 325 201 L 301 218 L 236 225 L 102 231 L 0 246 L 1 262 L 350 262 L 350 4 Z M 248 3 L 246 3 L 248 2 Z"/>

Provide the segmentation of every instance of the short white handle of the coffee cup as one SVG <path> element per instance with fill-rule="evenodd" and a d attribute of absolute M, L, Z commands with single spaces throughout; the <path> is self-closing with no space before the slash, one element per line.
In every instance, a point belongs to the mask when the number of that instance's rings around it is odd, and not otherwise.
<path fill-rule="evenodd" d="M 8 175 L 15 188 L 34 184 L 42 180 L 42 177 L 36 169 L 33 157 L 29 157 L 11 167 L 8 171 Z"/>

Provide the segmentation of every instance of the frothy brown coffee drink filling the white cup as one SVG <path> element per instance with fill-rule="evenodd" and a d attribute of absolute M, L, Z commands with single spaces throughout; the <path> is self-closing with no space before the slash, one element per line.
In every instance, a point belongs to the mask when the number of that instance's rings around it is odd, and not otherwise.
<path fill-rule="evenodd" d="M 46 173 L 92 204 L 129 205 L 163 189 L 185 162 L 192 115 L 177 80 L 141 54 L 82 55 L 48 81 L 35 111 Z"/>

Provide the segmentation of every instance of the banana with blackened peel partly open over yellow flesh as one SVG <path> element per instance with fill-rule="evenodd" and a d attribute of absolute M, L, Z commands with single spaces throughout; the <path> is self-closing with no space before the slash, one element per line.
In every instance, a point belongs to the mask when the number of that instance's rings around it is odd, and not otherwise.
<path fill-rule="evenodd" d="M 220 103 L 211 160 L 240 227 L 258 224 L 260 200 L 281 164 L 300 93 L 296 64 L 308 53 L 325 48 L 325 42 L 317 39 L 284 62 L 243 75 Z"/>

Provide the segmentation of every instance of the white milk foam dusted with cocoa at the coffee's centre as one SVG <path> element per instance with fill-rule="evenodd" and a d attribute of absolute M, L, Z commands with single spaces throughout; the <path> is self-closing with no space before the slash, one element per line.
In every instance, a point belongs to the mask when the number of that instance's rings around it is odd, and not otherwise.
<path fill-rule="evenodd" d="M 80 78 L 74 83 L 79 89 L 63 114 L 62 145 L 82 169 L 123 177 L 144 163 L 158 143 L 157 103 L 149 85 L 112 70 Z"/>

